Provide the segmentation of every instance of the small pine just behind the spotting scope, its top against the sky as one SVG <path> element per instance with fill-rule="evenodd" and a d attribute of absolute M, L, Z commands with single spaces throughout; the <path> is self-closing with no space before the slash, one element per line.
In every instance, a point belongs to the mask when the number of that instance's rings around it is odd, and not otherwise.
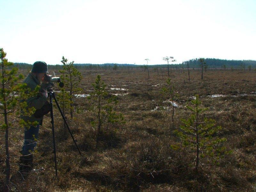
<path fill-rule="evenodd" d="M 81 88 L 79 88 L 80 82 L 82 80 L 81 73 L 74 67 L 74 61 L 68 63 L 68 59 L 62 57 L 61 62 L 62 70 L 60 70 L 60 73 L 62 75 L 60 76 L 62 82 L 64 83 L 64 91 L 69 92 L 69 100 L 70 100 L 70 117 L 73 118 L 73 97 L 76 93 L 81 91 Z"/>

